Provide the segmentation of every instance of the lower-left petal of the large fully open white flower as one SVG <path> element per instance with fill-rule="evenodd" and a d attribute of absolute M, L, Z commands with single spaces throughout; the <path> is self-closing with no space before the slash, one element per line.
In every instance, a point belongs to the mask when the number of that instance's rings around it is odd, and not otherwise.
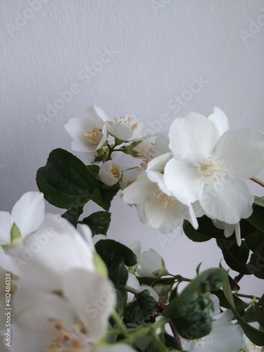
<path fill-rule="evenodd" d="M 173 158 L 165 165 L 164 182 L 175 198 L 184 204 L 189 205 L 201 196 L 203 180 L 196 166 Z"/>

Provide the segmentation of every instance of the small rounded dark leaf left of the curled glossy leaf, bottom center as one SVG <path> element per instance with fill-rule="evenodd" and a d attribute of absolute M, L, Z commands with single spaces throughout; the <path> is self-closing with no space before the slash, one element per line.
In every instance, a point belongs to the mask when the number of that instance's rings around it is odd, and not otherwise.
<path fill-rule="evenodd" d="M 140 322 L 153 313 L 156 308 L 155 299 L 145 289 L 137 294 L 137 299 L 127 304 L 124 310 L 124 318 L 127 322 Z"/>

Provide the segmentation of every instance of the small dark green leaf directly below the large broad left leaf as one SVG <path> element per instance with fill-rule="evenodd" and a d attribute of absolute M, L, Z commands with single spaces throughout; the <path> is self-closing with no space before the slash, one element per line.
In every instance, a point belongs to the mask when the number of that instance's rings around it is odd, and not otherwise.
<path fill-rule="evenodd" d="M 111 222 L 111 213 L 108 211 L 96 211 L 87 218 L 80 221 L 81 224 L 88 225 L 92 230 L 93 236 L 95 234 L 106 234 Z"/>

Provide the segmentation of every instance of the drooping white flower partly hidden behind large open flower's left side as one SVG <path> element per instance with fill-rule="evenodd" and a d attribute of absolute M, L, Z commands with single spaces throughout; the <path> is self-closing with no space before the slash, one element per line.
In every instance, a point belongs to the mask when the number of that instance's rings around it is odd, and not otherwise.
<path fill-rule="evenodd" d="M 164 184 L 162 172 L 170 158 L 171 153 L 166 153 L 150 161 L 146 171 L 122 191 L 123 200 L 137 204 L 140 220 L 161 232 L 171 232 L 183 218 L 197 228 L 192 207 L 180 203 Z"/>

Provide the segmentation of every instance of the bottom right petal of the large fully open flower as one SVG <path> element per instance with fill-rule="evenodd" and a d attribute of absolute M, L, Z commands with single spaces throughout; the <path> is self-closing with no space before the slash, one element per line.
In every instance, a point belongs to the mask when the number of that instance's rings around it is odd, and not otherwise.
<path fill-rule="evenodd" d="M 215 190 L 205 185 L 200 204 L 210 218 L 237 224 L 251 215 L 253 198 L 244 180 L 233 179 Z"/>

